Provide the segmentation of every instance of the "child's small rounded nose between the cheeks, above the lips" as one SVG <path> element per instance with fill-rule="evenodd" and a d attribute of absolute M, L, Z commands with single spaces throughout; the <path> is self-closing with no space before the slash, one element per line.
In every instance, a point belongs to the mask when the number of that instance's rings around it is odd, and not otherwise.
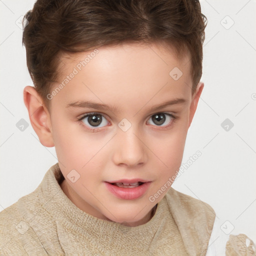
<path fill-rule="evenodd" d="M 147 160 L 146 145 L 133 126 L 127 131 L 118 130 L 115 143 L 113 162 L 116 165 L 134 167 L 142 165 Z"/>

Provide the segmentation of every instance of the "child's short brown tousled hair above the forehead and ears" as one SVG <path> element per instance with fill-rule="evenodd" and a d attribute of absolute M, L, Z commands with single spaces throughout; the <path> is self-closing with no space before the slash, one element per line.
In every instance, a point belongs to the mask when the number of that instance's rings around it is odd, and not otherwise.
<path fill-rule="evenodd" d="M 198 0 L 37 0 L 24 18 L 27 68 L 48 109 L 62 52 L 159 41 L 190 54 L 192 93 L 201 78 L 207 19 Z"/>

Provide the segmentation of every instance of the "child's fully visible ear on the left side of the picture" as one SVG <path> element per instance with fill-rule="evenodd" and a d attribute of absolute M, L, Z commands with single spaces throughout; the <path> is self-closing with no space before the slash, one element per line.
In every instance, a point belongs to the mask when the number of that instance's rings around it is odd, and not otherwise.
<path fill-rule="evenodd" d="M 23 99 L 28 110 L 30 123 L 40 142 L 47 147 L 54 146 L 50 114 L 35 88 L 25 86 Z"/>

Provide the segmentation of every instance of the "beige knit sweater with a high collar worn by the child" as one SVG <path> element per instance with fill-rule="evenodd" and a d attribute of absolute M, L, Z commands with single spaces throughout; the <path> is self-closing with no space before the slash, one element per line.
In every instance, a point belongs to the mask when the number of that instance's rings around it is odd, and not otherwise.
<path fill-rule="evenodd" d="M 56 163 L 33 192 L 0 212 L 0 255 L 206 254 L 215 219 L 208 204 L 170 188 L 147 223 L 129 227 L 80 210 L 60 181 Z M 252 241 L 239 245 L 244 254 L 228 242 L 227 255 L 255 255 Z"/>

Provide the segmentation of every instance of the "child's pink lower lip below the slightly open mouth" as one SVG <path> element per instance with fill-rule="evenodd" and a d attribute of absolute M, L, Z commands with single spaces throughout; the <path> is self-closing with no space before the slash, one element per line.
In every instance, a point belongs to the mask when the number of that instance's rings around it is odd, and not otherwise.
<path fill-rule="evenodd" d="M 151 181 L 144 182 L 143 184 L 136 187 L 127 187 L 127 188 L 115 186 L 108 182 L 104 182 L 104 183 L 106 184 L 107 189 L 118 198 L 132 200 L 142 196 L 148 189 Z"/>

